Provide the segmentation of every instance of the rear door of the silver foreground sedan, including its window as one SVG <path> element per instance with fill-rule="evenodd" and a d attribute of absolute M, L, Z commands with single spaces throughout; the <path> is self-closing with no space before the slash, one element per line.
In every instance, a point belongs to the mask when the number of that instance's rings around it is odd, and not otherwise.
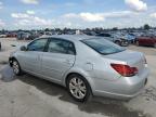
<path fill-rule="evenodd" d="M 42 72 L 48 78 L 62 81 L 64 74 L 75 63 L 76 50 L 73 42 L 50 39 L 47 52 L 42 55 Z"/>

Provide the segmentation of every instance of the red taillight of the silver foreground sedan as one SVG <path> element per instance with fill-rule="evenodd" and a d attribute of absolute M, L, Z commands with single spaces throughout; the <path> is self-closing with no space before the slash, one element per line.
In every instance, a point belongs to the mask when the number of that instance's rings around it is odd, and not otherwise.
<path fill-rule="evenodd" d="M 123 77 L 131 77 L 138 74 L 136 67 L 130 67 L 123 64 L 110 64 L 110 66 Z"/>

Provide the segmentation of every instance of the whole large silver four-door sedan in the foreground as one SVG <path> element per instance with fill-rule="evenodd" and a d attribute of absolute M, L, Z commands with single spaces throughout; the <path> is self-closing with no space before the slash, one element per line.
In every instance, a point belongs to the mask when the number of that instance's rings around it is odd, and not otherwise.
<path fill-rule="evenodd" d="M 9 62 L 15 75 L 25 72 L 62 84 L 80 102 L 92 95 L 129 100 L 148 77 L 143 53 L 90 36 L 42 37 L 11 53 Z"/>

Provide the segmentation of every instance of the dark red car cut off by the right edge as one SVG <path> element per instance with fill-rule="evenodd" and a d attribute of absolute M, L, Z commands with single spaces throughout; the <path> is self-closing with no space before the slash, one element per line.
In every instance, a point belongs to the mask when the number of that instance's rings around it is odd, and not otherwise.
<path fill-rule="evenodd" d="M 136 38 L 136 46 L 152 46 L 156 48 L 156 36 L 144 36 Z"/>

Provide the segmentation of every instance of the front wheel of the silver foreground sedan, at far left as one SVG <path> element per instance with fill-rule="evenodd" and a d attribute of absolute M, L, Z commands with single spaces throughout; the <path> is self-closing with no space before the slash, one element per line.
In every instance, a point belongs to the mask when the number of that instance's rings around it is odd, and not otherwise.
<path fill-rule="evenodd" d="M 13 61 L 12 61 L 12 68 L 13 68 L 13 73 L 14 73 L 16 76 L 22 75 L 21 66 L 20 66 L 20 64 L 18 64 L 18 62 L 17 62 L 16 60 L 13 60 Z"/>

